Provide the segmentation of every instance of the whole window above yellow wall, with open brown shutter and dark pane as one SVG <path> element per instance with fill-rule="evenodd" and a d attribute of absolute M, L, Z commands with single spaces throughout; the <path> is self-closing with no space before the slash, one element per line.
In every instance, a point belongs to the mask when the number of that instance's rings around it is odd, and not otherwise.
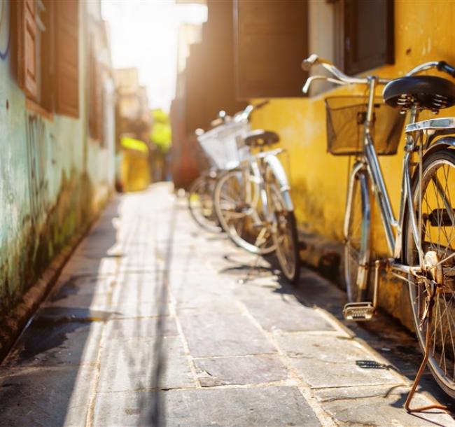
<path fill-rule="evenodd" d="M 393 0 L 237 0 L 237 97 L 302 96 L 300 62 L 312 52 L 350 75 L 393 64 L 393 29 Z"/>

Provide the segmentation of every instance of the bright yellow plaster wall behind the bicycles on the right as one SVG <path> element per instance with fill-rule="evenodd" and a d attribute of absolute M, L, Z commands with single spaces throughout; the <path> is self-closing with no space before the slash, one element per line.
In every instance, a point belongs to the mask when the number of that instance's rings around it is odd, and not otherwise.
<path fill-rule="evenodd" d="M 454 64 L 454 25 L 455 1 L 395 0 L 395 64 L 370 73 L 394 78 L 421 62 L 444 59 Z M 377 94 L 380 92 L 381 89 Z M 272 99 L 264 109 L 254 113 L 252 120 L 253 128 L 279 132 L 282 145 L 290 153 L 299 227 L 337 241 L 342 241 L 349 159 L 326 152 L 324 97 L 346 93 L 363 94 L 363 88 L 342 87 L 311 99 Z M 442 111 L 441 116 L 444 115 L 455 116 L 455 113 L 449 109 Z M 397 155 L 381 158 L 395 215 L 399 209 L 403 142 L 404 139 Z M 374 235 L 375 246 L 379 246 L 381 252 L 386 251 L 377 221 Z"/>

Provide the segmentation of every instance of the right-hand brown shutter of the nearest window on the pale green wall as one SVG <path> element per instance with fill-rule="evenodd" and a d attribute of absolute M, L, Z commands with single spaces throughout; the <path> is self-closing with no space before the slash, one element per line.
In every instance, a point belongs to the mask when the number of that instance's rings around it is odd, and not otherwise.
<path fill-rule="evenodd" d="M 78 0 L 55 2 L 55 111 L 79 117 Z"/>

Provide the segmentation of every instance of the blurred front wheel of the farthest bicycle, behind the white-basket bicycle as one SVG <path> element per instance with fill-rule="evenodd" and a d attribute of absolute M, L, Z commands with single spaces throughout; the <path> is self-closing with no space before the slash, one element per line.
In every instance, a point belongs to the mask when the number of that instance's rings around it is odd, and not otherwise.
<path fill-rule="evenodd" d="M 214 210 L 215 180 L 207 176 L 195 179 L 188 190 L 188 208 L 194 220 L 205 230 L 221 232 Z"/>

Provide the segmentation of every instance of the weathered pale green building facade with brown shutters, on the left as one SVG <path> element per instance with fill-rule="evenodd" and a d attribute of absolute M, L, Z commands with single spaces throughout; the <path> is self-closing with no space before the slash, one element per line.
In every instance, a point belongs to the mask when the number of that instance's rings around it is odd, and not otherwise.
<path fill-rule="evenodd" d="M 115 93 L 99 1 L 2 1 L 0 7 L 5 318 L 113 191 Z"/>

